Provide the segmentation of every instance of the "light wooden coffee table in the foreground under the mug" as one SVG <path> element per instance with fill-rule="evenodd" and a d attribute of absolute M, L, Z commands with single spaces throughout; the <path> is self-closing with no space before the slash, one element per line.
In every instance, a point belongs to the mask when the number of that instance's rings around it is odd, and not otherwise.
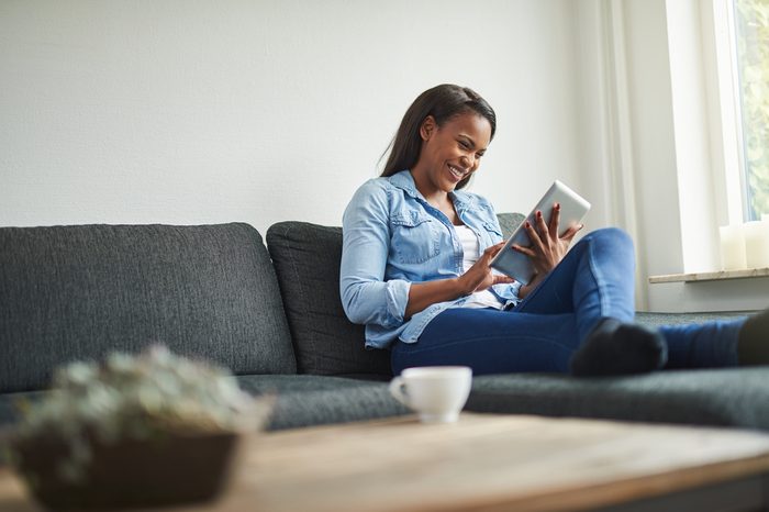
<path fill-rule="evenodd" d="M 37 509 L 0 470 L 5 510 Z M 283 431 L 248 439 L 223 497 L 183 510 L 769 510 L 769 435 L 490 414 Z"/>

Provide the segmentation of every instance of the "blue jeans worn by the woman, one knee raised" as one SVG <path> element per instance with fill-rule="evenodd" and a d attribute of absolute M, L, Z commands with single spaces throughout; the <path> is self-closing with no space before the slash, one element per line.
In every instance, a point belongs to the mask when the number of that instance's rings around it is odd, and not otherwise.
<path fill-rule="evenodd" d="M 511 311 L 453 308 L 413 344 L 395 343 L 393 374 L 411 366 L 466 365 L 475 375 L 568 372 L 569 360 L 602 319 L 632 322 L 635 256 L 617 229 L 586 235 Z M 736 366 L 745 319 L 659 327 L 668 368 Z"/>

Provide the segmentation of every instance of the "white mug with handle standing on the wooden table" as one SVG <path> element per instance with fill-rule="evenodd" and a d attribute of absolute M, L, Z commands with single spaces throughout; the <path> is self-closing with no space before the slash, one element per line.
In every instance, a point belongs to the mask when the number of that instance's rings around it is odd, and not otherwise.
<path fill-rule="evenodd" d="M 457 421 L 472 385 L 467 366 L 406 368 L 390 381 L 390 393 L 428 423 Z"/>

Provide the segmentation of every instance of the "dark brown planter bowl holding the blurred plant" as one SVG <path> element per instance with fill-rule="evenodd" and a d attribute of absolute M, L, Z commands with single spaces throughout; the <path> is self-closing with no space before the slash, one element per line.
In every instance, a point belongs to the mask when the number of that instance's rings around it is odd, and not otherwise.
<path fill-rule="evenodd" d="M 92 443 L 85 478 L 62 478 L 62 442 L 15 443 L 16 470 L 40 503 L 53 510 L 119 510 L 208 501 L 225 487 L 239 436 L 169 435 L 153 441 Z"/>

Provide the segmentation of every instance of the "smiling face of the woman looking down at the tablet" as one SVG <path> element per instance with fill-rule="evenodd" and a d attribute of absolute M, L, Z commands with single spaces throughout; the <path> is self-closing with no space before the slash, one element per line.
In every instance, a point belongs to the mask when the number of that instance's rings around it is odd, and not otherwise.
<path fill-rule="evenodd" d="M 478 170 L 491 142 L 491 123 L 476 112 L 452 118 L 443 126 L 428 116 L 420 134 L 422 149 L 412 172 L 420 175 L 423 186 L 432 189 L 427 193 L 450 192 L 459 181 Z"/>

